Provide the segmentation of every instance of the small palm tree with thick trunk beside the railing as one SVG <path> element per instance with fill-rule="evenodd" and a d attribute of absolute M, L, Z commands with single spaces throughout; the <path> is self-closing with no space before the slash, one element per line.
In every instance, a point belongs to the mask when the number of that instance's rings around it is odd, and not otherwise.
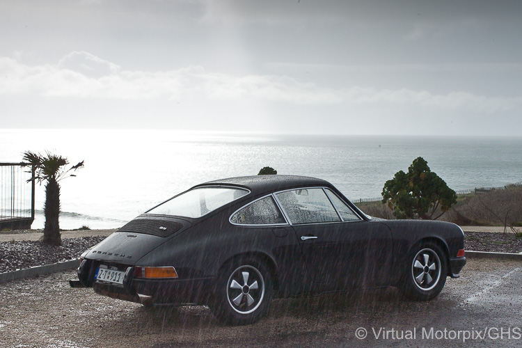
<path fill-rule="evenodd" d="M 66 157 L 54 155 L 45 152 L 45 155 L 26 151 L 24 152 L 24 161 L 29 162 L 28 166 L 35 168 L 35 176 L 28 181 L 47 182 L 45 185 L 45 226 L 42 242 L 50 245 L 60 245 L 62 243 L 60 235 L 60 226 L 58 216 L 60 215 L 60 180 L 65 177 L 76 176 L 70 171 L 76 171 L 84 166 L 84 161 L 79 162 L 76 166 L 72 166 L 65 170 L 65 166 L 69 164 Z"/>

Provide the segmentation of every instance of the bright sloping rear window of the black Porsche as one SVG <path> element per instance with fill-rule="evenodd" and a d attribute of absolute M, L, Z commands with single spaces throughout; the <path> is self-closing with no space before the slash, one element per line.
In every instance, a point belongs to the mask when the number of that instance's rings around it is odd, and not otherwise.
<path fill-rule="evenodd" d="M 146 214 L 198 218 L 247 194 L 248 190 L 233 187 L 198 187 L 161 203 Z"/>

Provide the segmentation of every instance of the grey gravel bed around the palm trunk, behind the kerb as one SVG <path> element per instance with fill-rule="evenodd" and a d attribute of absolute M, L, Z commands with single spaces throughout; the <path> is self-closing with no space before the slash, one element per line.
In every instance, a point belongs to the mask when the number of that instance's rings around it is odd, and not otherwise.
<path fill-rule="evenodd" d="M 39 241 L 1 242 L 0 273 L 79 258 L 103 239 L 103 236 L 62 239 L 61 246 L 48 246 Z"/>

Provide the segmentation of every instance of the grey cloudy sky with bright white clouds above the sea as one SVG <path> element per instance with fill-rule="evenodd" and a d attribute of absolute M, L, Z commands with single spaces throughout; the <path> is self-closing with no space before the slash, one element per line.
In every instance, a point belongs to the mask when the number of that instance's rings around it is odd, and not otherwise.
<path fill-rule="evenodd" d="M 0 128 L 521 136 L 522 1 L 0 0 Z"/>

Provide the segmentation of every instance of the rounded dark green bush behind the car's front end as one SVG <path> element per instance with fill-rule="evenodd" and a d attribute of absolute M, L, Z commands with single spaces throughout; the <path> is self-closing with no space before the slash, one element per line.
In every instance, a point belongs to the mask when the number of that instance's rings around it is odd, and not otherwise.
<path fill-rule="evenodd" d="M 436 220 L 457 203 L 457 193 L 444 180 L 430 171 L 428 162 L 416 158 L 408 168 L 408 173 L 398 171 L 388 180 L 382 190 L 383 203 L 393 209 L 397 219 Z M 438 209 L 440 214 L 434 216 Z"/>

